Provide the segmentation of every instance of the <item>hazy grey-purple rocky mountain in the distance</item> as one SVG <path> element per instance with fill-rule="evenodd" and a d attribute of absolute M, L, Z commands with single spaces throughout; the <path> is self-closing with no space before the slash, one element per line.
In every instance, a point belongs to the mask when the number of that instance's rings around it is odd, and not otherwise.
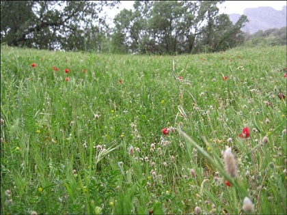
<path fill-rule="evenodd" d="M 246 33 L 252 34 L 259 30 L 286 27 L 286 6 L 282 10 L 275 10 L 271 7 L 246 8 L 243 14 L 249 19 L 249 23 L 242 29 Z M 241 14 L 229 16 L 232 23 L 236 23 Z"/>

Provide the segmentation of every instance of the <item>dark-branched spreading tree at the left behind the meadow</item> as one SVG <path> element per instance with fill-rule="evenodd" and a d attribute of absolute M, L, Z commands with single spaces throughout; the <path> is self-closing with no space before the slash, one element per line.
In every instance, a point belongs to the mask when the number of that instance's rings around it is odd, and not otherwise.
<path fill-rule="evenodd" d="M 1 1 L 1 42 L 12 46 L 99 49 L 103 7 L 118 1 Z"/>

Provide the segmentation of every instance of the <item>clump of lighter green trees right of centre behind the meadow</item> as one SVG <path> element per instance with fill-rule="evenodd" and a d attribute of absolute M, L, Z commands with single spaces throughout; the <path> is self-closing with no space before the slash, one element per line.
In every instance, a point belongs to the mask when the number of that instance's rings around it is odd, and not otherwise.
<path fill-rule="evenodd" d="M 132 53 L 182 54 L 225 51 L 243 42 L 242 16 L 232 25 L 219 15 L 222 1 L 137 1 L 115 17 L 113 44 Z M 119 34 L 118 32 L 121 32 Z M 120 48 L 123 49 L 123 48 Z M 126 50 L 124 50 L 126 51 Z"/>

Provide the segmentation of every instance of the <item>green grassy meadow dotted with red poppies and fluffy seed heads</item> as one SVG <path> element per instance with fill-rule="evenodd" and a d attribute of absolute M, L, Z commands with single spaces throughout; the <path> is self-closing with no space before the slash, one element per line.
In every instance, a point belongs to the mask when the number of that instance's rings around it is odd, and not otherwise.
<path fill-rule="evenodd" d="M 1 46 L 1 214 L 286 214 L 286 72 Z"/>

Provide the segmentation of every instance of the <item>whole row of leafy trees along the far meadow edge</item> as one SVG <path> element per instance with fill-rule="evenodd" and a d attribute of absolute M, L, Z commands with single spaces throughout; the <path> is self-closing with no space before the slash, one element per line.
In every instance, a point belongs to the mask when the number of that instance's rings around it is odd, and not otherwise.
<path fill-rule="evenodd" d="M 243 44 L 247 16 L 232 23 L 224 1 L 135 1 L 107 24 L 120 1 L 1 1 L 1 43 L 65 51 L 184 54 Z"/>

